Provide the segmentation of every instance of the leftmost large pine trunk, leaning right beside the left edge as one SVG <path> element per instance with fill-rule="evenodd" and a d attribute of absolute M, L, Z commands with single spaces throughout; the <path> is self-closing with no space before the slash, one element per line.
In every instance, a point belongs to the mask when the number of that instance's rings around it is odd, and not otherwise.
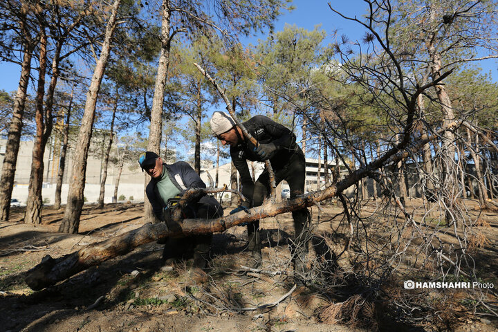
<path fill-rule="evenodd" d="M 12 120 L 7 136 L 6 154 L 3 158 L 3 167 L 0 180 L 0 221 L 8 221 L 10 214 L 10 199 L 12 199 L 12 188 L 14 187 L 14 176 L 17 164 L 17 153 L 19 142 L 21 142 L 21 131 L 23 127 L 24 106 L 26 104 L 26 91 L 28 90 L 31 72 L 31 58 L 33 57 L 33 46 L 24 46 L 23 62 L 21 64 L 21 78 L 12 109 Z"/>

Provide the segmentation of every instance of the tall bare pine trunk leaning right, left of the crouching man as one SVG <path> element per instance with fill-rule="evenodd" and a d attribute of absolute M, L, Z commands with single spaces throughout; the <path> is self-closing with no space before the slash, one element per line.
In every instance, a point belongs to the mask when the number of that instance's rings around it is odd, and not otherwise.
<path fill-rule="evenodd" d="M 111 38 L 114 29 L 116 28 L 116 17 L 120 3 L 121 0 L 115 0 L 113 3 L 100 58 L 95 65 L 89 92 L 86 94 L 86 103 L 77 140 L 78 145 L 75 148 L 73 156 L 73 169 L 71 171 L 71 182 L 69 183 L 68 201 L 66 210 L 64 211 L 64 219 L 62 219 L 62 223 L 59 227 L 59 232 L 76 234 L 78 228 L 80 228 L 80 216 L 84 203 L 83 193 L 86 178 L 86 160 L 90 148 L 93 120 L 95 120 L 95 105 L 97 104 L 100 83 L 104 77 L 105 67 L 107 65 L 107 60 L 109 59 L 109 48 L 111 46 Z"/>

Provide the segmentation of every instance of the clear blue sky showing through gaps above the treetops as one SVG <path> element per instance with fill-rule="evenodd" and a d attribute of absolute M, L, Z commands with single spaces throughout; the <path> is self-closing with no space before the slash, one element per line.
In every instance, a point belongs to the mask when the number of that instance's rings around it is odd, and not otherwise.
<path fill-rule="evenodd" d="M 326 44 L 333 42 L 331 35 L 336 29 L 338 30 L 339 35 L 347 35 L 349 39 L 352 40 L 360 39 L 364 35 L 365 30 L 363 30 L 359 24 L 354 24 L 351 21 L 342 19 L 332 12 L 328 2 L 330 2 L 336 10 L 349 16 L 356 15 L 361 17 L 367 9 L 365 2 L 362 0 L 295 0 L 293 3 L 296 9 L 290 13 L 286 12 L 280 17 L 275 24 L 275 30 L 282 30 L 285 24 L 295 24 L 298 27 L 313 30 L 317 24 L 321 24 L 322 28 L 326 30 L 327 35 L 329 35 L 325 40 Z M 266 35 L 260 35 L 248 38 L 243 42 L 244 44 L 256 44 L 258 37 L 266 39 Z M 479 62 L 479 65 L 486 73 L 491 71 L 494 82 L 498 81 L 498 65 L 496 59 L 481 61 Z M 16 64 L 0 62 L 0 73 L 0 89 L 8 92 L 15 91 L 17 89 L 17 84 L 19 83 L 20 67 Z M 33 87 L 31 87 L 31 89 L 33 89 Z"/>

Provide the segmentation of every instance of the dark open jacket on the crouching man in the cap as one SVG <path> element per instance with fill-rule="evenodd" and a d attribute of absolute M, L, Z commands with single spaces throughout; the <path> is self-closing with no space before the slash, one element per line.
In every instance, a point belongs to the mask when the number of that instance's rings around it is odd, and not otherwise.
<path fill-rule="evenodd" d="M 169 179 L 178 188 L 178 190 L 180 190 L 181 194 L 184 194 L 188 189 L 206 187 L 199 174 L 197 174 L 189 164 L 185 163 L 185 161 L 178 161 L 172 165 L 166 165 L 163 163 L 163 167 L 165 167 L 164 172 L 167 172 Z M 154 214 L 158 219 L 164 221 L 163 211 L 166 208 L 167 202 L 163 202 L 161 199 L 156 187 L 157 182 L 158 180 L 152 178 L 145 188 L 145 192 L 149 202 L 152 205 Z M 221 215 L 223 215 L 223 209 L 221 208 L 221 205 L 219 205 L 218 201 L 216 201 L 216 199 L 212 196 L 205 195 L 200 199 L 194 200 L 187 204 L 187 207 L 184 209 L 187 212 L 187 216 L 189 218 L 196 218 L 196 210 L 198 210 L 199 205 L 201 204 L 215 205 L 215 208 L 221 210 Z"/>

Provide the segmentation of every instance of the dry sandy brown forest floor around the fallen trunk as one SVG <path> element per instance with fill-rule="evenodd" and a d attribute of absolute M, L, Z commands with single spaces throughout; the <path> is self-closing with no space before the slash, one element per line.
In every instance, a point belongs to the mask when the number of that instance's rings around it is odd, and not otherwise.
<path fill-rule="evenodd" d="M 416 204 L 416 200 L 412 204 Z M 409 203 L 410 204 L 410 203 Z M 227 209 L 228 210 L 228 209 Z M 368 210 L 368 209 L 367 209 Z M 226 211 L 226 210 L 225 210 Z M 476 209 L 477 211 L 477 209 Z M 322 207 L 320 218 L 342 212 L 337 205 Z M 293 221 L 282 214 L 261 221 L 263 270 L 286 269 L 280 274 L 243 270 L 245 227 L 214 234 L 211 268 L 205 278 L 187 273 L 192 260 L 173 270 L 161 270 L 163 246 L 148 243 L 127 255 L 89 268 L 42 291 L 24 282 L 27 270 L 45 255 L 61 257 L 89 243 L 139 228 L 145 223 L 142 204 L 109 204 L 104 209 L 85 205 L 79 234 L 58 233 L 64 210 L 44 207 L 42 225 L 22 223 L 24 208 L 12 208 L 8 223 L 0 223 L 0 331 L 369 331 L 373 326 L 338 324 L 324 319 L 323 308 L 333 302 L 313 288 L 293 288 L 288 264 Z M 226 213 L 226 212 L 225 212 Z M 477 212 L 476 212 L 477 213 Z M 317 208 L 313 208 L 317 214 Z M 498 212 L 483 212 L 488 241 L 479 248 L 477 275 L 498 287 Z M 324 223 L 323 232 L 333 225 Z M 279 262 L 279 264 L 277 264 Z M 282 299 L 282 297 L 284 297 Z M 241 311 L 261 304 L 275 306 Z M 326 324 L 328 322 L 329 324 Z M 333 324 L 330 324 L 333 323 Z M 384 322 L 381 331 L 430 331 L 431 326 Z M 494 317 L 464 313 L 450 331 L 497 331 Z"/>

